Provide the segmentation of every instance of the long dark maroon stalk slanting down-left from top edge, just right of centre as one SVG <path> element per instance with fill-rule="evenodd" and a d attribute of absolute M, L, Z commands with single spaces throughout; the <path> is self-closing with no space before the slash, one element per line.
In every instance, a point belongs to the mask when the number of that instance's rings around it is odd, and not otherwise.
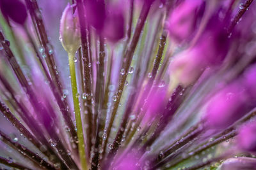
<path fill-rule="evenodd" d="M 116 116 L 116 112 L 117 112 L 117 109 L 118 109 L 118 105 L 120 103 L 120 99 L 122 97 L 122 92 L 124 90 L 125 80 L 127 78 L 129 67 L 131 65 L 133 53 L 134 53 L 135 48 L 137 46 L 137 43 L 139 41 L 140 32 L 143 29 L 143 26 L 145 24 L 145 20 L 147 18 L 149 10 L 150 10 L 150 4 L 145 2 L 143 4 L 143 8 L 141 10 L 140 17 L 139 17 L 139 20 L 137 22 L 136 29 L 134 31 L 134 35 L 132 37 L 131 43 L 129 44 L 129 47 L 127 48 L 127 50 L 125 52 L 125 55 L 124 55 L 124 63 L 123 63 L 124 68 L 122 68 L 122 69 L 124 69 L 124 74 L 123 73 L 121 74 L 120 79 L 118 81 L 119 82 L 118 90 L 115 94 L 115 103 L 114 103 L 114 106 L 113 106 L 113 111 L 111 113 L 111 118 L 110 118 L 108 129 L 107 129 L 107 132 L 106 132 L 107 137 L 106 137 L 106 143 L 104 144 L 104 150 L 106 150 L 106 145 L 108 143 L 109 134 L 110 134 L 113 122 L 115 120 L 115 116 Z"/>

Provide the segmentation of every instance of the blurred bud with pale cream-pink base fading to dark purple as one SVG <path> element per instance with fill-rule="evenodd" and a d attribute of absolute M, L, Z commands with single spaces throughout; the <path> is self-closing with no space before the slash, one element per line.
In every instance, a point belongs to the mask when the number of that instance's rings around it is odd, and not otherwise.
<path fill-rule="evenodd" d="M 227 54 L 229 41 L 218 20 L 202 34 L 195 46 L 179 53 L 170 62 L 171 80 L 184 87 L 193 83 L 205 68 L 219 66 Z M 178 81 L 178 82 L 177 82 Z"/>

